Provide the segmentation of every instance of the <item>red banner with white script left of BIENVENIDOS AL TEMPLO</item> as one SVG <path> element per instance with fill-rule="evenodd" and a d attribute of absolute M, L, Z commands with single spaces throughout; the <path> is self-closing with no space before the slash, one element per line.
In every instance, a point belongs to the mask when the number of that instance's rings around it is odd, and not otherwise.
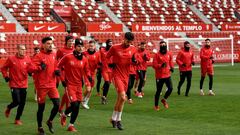
<path fill-rule="evenodd" d="M 100 23 L 100 24 L 88 24 L 87 32 L 122 32 L 122 24 Z"/>

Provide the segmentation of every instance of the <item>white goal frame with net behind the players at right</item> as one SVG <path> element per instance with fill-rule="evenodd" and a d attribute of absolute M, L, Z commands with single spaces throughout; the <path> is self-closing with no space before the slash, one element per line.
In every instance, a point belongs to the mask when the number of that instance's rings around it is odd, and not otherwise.
<path fill-rule="evenodd" d="M 168 45 L 168 49 L 172 51 L 173 58 L 177 56 L 179 50 L 183 47 L 185 41 L 190 42 L 191 50 L 194 52 L 194 58 L 196 63 L 200 63 L 200 49 L 205 45 L 205 39 L 207 38 L 166 38 L 165 41 Z M 214 60 L 216 63 L 224 63 L 234 65 L 234 60 L 237 60 L 238 54 L 234 52 L 233 37 L 225 38 L 208 38 L 211 40 L 211 48 L 214 51 Z M 158 41 L 159 42 L 159 41 Z"/>

